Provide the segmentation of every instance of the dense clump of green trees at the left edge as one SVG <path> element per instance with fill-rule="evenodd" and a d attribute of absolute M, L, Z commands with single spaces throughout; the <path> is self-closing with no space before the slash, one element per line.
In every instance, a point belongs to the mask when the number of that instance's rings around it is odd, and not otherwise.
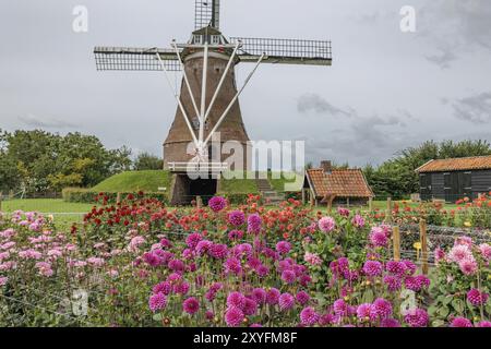
<path fill-rule="evenodd" d="M 93 186 L 131 168 L 128 147 L 106 149 L 93 135 L 41 130 L 0 132 L 0 186 L 27 193 Z"/>

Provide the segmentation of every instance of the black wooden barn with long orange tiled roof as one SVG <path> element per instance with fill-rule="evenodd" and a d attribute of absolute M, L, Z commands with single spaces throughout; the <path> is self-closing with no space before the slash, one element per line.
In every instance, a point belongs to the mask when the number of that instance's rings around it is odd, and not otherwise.
<path fill-rule="evenodd" d="M 431 160 L 416 172 L 423 201 L 456 202 L 491 191 L 491 155 Z"/>

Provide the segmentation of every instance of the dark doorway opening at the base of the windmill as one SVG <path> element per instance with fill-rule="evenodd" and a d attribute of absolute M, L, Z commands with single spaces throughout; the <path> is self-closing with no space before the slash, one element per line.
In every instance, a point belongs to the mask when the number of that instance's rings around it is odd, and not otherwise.
<path fill-rule="evenodd" d="M 190 205 L 196 196 L 201 196 L 203 203 L 207 204 L 208 200 L 215 196 L 216 191 L 216 179 L 190 179 L 188 174 L 177 174 L 172 204 Z"/>

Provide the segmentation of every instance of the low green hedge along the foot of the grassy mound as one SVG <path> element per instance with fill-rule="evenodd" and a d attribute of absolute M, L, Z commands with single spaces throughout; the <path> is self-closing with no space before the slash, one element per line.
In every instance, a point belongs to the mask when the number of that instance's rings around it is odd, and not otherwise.
<path fill-rule="evenodd" d="M 99 192 L 91 189 L 84 188 L 65 188 L 62 192 L 63 201 L 68 203 L 86 203 L 86 204 L 95 204 L 97 196 L 103 194 L 107 196 L 109 204 L 115 204 L 118 197 L 118 193 L 113 192 Z M 124 200 L 129 194 L 137 196 L 137 192 L 121 192 L 121 200 Z M 145 192 L 143 197 L 146 198 L 157 198 L 158 201 L 169 204 L 169 197 L 167 193 L 151 193 Z"/>

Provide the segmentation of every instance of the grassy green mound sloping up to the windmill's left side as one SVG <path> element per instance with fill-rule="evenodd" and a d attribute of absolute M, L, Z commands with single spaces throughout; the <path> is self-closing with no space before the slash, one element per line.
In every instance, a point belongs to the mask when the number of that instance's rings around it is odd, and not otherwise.
<path fill-rule="evenodd" d="M 170 172 L 155 171 L 128 171 L 112 176 L 94 186 L 93 191 L 100 192 L 158 192 L 159 188 L 170 185 Z"/>

